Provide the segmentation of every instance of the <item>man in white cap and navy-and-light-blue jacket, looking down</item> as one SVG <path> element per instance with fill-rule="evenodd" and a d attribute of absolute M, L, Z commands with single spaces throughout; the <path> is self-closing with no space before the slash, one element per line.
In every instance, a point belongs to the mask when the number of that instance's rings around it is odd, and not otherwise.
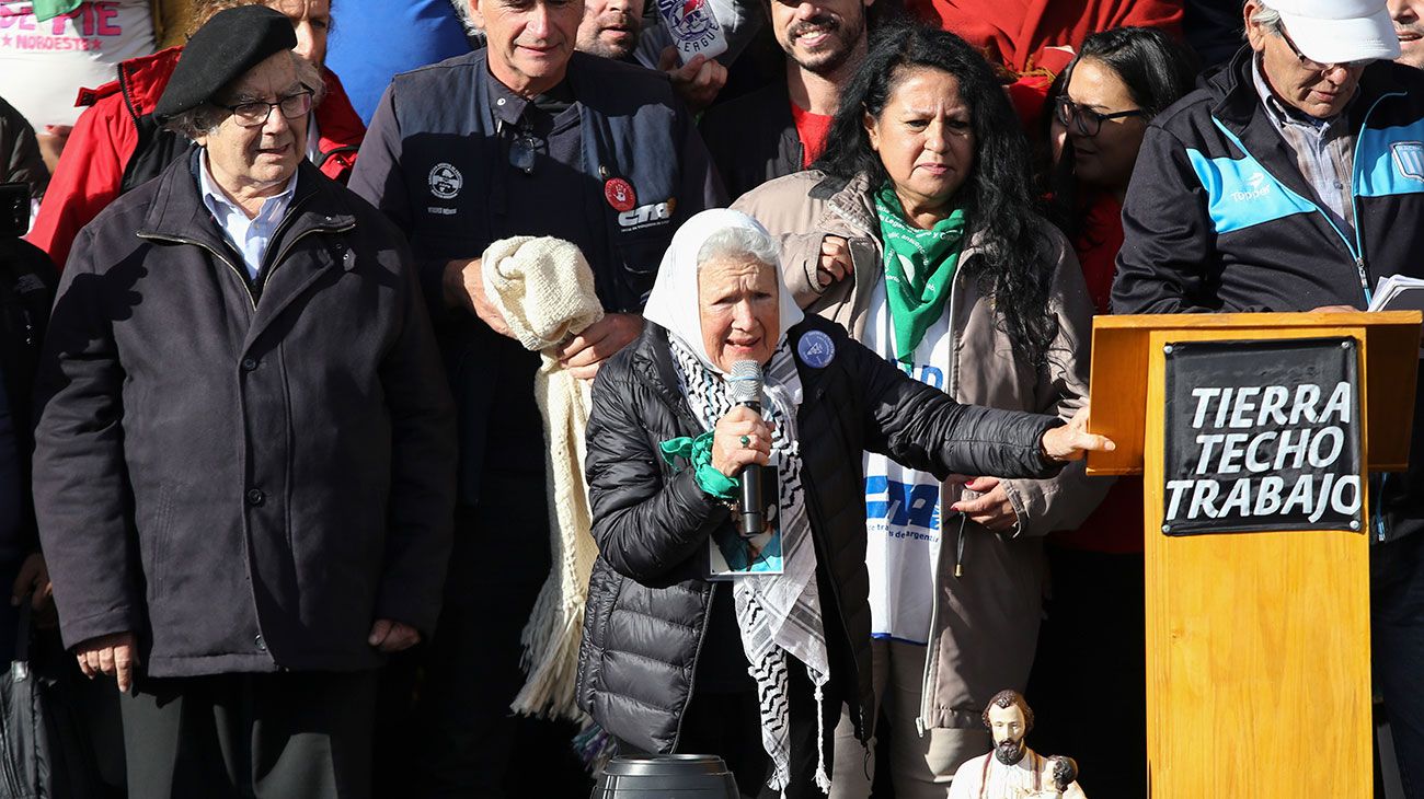
<path fill-rule="evenodd" d="M 1148 128 L 1114 313 L 1357 310 L 1424 277 L 1424 73 L 1386 0 L 1246 0 L 1247 45 Z M 1424 382 L 1415 397 L 1424 397 Z M 1410 796 L 1424 796 L 1424 402 L 1371 490 L 1371 623 Z"/>

